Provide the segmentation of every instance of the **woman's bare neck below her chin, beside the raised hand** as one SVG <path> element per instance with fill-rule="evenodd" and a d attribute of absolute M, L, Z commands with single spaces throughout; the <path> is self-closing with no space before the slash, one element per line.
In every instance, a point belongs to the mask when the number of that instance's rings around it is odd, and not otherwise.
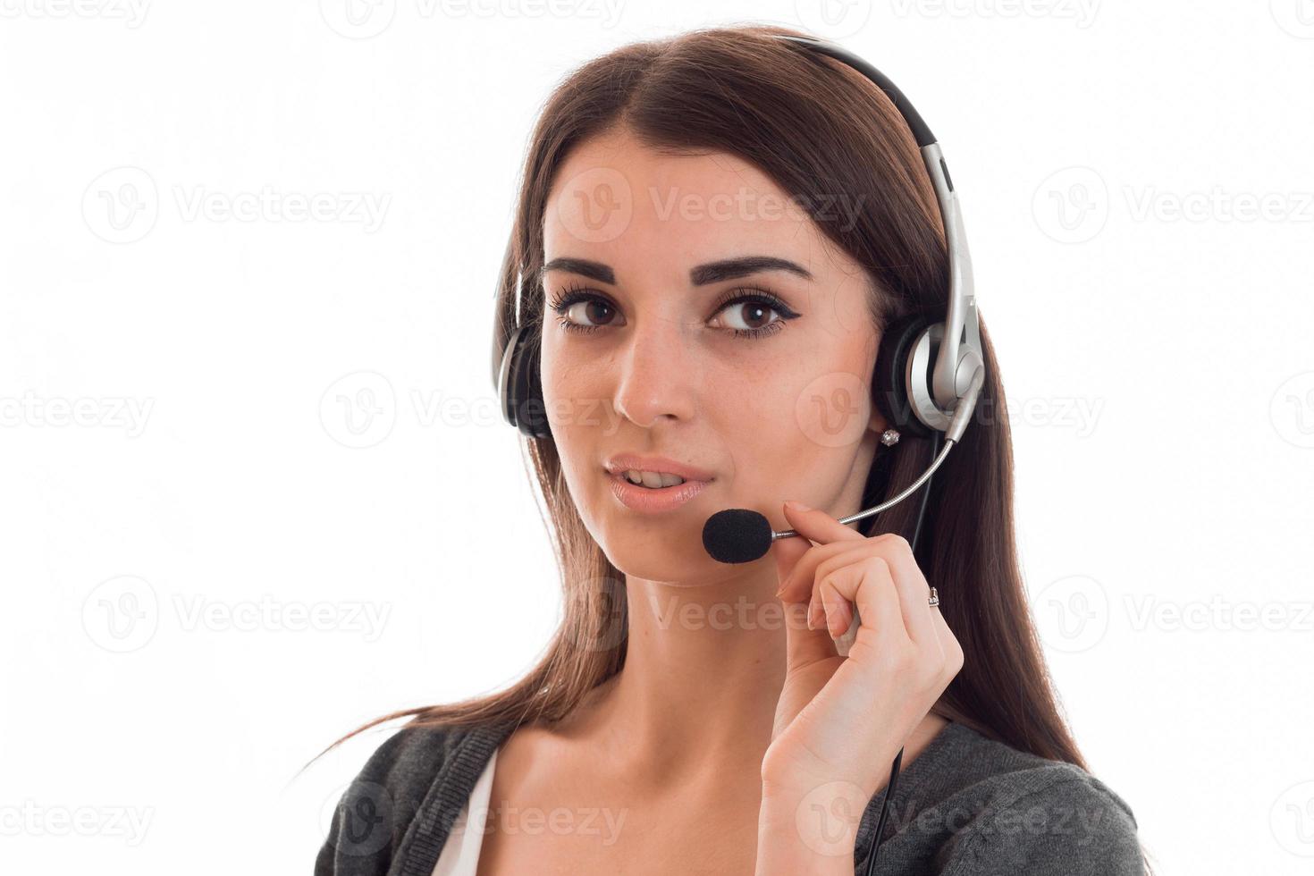
<path fill-rule="evenodd" d="M 779 582 L 762 566 L 706 586 L 627 578 L 625 665 L 568 721 L 608 772 L 654 793 L 724 785 L 727 776 L 758 781 L 786 674 Z M 945 724 L 921 720 L 904 768 Z"/>

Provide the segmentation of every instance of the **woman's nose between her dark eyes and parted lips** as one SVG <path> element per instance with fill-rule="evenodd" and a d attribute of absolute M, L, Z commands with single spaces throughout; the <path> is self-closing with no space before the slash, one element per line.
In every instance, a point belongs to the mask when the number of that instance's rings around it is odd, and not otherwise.
<path fill-rule="evenodd" d="M 696 366 L 691 360 L 681 322 L 648 317 L 636 326 L 618 357 L 619 382 L 612 406 L 644 428 L 660 420 L 687 420 L 695 411 Z"/>

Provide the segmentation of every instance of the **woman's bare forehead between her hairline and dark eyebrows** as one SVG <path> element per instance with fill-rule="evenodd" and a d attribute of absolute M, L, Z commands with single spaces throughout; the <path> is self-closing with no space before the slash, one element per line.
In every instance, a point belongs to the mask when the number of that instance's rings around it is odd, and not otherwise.
<path fill-rule="evenodd" d="M 548 260 L 582 256 L 622 274 L 627 261 L 687 272 L 749 253 L 788 257 L 813 276 L 842 261 L 802 204 L 750 162 L 657 151 L 623 129 L 583 141 L 557 169 L 544 250 Z"/>

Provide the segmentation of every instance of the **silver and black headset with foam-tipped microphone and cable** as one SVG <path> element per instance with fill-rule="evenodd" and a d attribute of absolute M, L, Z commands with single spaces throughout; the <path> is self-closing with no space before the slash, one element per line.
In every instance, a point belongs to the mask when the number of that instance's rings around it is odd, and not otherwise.
<path fill-rule="evenodd" d="M 878 406 L 878 410 L 900 433 L 932 439 L 934 461 L 899 495 L 879 506 L 840 519 L 840 523 L 848 524 L 883 511 L 912 495 L 912 493 L 930 479 L 930 475 L 940 468 L 945 456 L 959 441 L 963 431 L 967 428 L 986 377 L 986 356 L 980 341 L 980 318 L 976 313 L 972 263 L 967 250 L 967 238 L 963 232 L 962 214 L 958 208 L 958 193 L 949 176 L 949 165 L 945 163 L 940 143 L 930 133 L 930 127 L 926 126 L 921 114 L 904 97 L 903 92 L 870 63 L 834 43 L 794 34 L 773 35 L 848 64 L 875 83 L 890 97 L 917 141 L 917 148 L 926 165 L 926 172 L 930 175 L 932 186 L 936 190 L 936 201 L 940 205 L 940 217 L 943 222 L 945 239 L 949 248 L 949 305 L 945 318 L 937 320 L 934 317 L 925 314 L 909 314 L 886 326 L 880 336 L 880 347 L 876 353 L 871 380 L 872 401 Z M 509 256 L 511 246 L 514 246 L 514 240 L 507 247 Z M 518 277 L 516 282 L 516 292 L 520 294 L 520 301 L 523 302 L 523 288 L 519 285 L 523 282 L 523 277 Z M 552 432 L 548 427 L 539 377 L 539 340 L 537 336 L 532 335 L 531 324 L 523 320 L 518 320 L 516 327 L 505 343 L 501 340 L 498 326 L 494 326 L 491 364 L 493 381 L 497 386 L 503 419 L 530 437 L 545 439 L 551 437 Z M 945 439 L 942 449 L 940 448 L 941 437 Z M 928 486 L 921 496 L 921 508 L 917 514 L 916 528 L 911 538 L 913 553 L 917 550 L 917 541 L 921 535 L 929 495 L 930 487 Z M 732 550 L 729 556 L 720 557 L 714 549 L 712 541 L 715 540 L 710 540 L 708 531 L 717 516 L 735 514 L 748 514 L 761 517 L 757 512 L 746 512 L 736 508 L 723 511 L 708 520 L 703 541 L 708 552 L 717 559 L 721 559 L 721 562 L 745 562 L 745 559 L 740 558 L 741 556 L 748 559 L 757 558 L 766 553 L 766 548 L 775 538 L 798 535 L 792 529 L 771 532 L 770 525 L 766 525 L 765 535 L 753 533 L 757 537 L 756 540 L 750 540 L 753 545 L 746 552 L 736 554 Z M 742 524 L 742 520 L 732 517 L 729 523 Z M 738 528 L 742 527 L 740 525 Z M 725 527 L 721 529 L 725 529 Z M 741 535 L 740 532 L 733 532 L 736 525 L 732 525 L 731 529 L 732 532 L 729 533 L 720 533 L 723 536 L 721 541 L 727 536 L 737 537 Z M 867 856 L 867 876 L 875 872 L 876 852 L 880 848 L 890 797 L 895 793 L 901 762 L 903 749 L 899 750 L 899 755 L 891 767 L 890 783 L 886 787 L 879 822 L 872 831 L 871 851 Z"/>

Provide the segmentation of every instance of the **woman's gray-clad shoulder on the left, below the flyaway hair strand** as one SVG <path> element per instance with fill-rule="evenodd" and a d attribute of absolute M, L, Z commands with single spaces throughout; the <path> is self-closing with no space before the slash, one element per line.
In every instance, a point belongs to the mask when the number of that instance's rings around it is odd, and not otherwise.
<path fill-rule="evenodd" d="M 495 737 L 484 728 L 407 725 L 384 739 L 343 791 L 315 858 L 315 876 L 386 873 L 417 816 L 440 802 L 435 789 L 459 753 Z"/>

